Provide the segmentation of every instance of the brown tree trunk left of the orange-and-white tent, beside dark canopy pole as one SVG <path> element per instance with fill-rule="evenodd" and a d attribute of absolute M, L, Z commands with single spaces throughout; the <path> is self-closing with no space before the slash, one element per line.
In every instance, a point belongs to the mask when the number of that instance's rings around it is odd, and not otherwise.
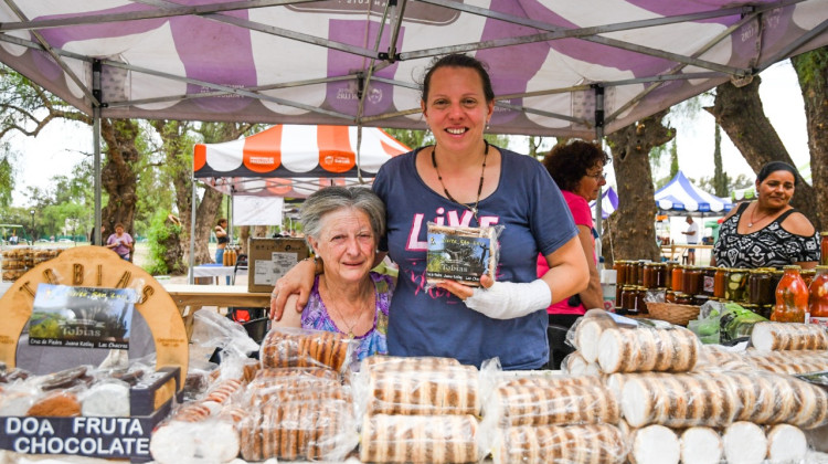
<path fill-rule="evenodd" d="M 138 184 L 135 167 L 141 157 L 136 141 L 140 136 L 140 128 L 132 119 L 103 118 L 100 136 L 106 141 L 106 162 L 100 171 L 100 183 L 109 196 L 109 201 L 102 211 L 102 222 L 106 225 L 107 234 L 114 232 L 115 224 L 120 222 L 134 235 L 132 220 Z M 106 238 L 102 240 L 106 241 Z"/>

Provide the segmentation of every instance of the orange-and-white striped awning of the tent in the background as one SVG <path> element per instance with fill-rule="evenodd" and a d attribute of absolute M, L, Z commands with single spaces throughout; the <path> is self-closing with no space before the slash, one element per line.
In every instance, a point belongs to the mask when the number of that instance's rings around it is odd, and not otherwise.
<path fill-rule="evenodd" d="M 410 148 L 375 127 L 278 125 L 222 144 L 197 144 L 193 176 L 233 194 L 307 197 L 322 186 L 370 183 Z M 359 145 L 359 148 L 358 148 Z"/>

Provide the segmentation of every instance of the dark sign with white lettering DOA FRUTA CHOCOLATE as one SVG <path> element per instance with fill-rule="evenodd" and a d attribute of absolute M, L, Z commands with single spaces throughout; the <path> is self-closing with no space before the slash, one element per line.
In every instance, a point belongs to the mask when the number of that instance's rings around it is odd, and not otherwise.
<path fill-rule="evenodd" d="M 0 418 L 0 447 L 25 454 L 149 457 L 151 429 L 136 418 Z"/>

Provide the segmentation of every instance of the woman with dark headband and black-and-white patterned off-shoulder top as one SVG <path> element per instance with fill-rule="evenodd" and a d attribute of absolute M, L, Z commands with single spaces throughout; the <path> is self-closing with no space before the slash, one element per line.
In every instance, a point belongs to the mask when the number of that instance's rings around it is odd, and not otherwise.
<path fill-rule="evenodd" d="M 805 214 L 790 198 L 797 176 L 793 166 L 771 161 L 756 175 L 756 200 L 745 202 L 724 218 L 713 245 L 711 264 L 723 267 L 782 267 L 819 262 L 819 240 Z"/>

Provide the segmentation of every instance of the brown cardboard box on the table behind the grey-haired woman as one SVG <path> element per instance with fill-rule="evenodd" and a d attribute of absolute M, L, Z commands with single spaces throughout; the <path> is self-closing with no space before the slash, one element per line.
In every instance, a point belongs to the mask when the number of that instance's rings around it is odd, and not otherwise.
<path fill-rule="evenodd" d="M 247 240 L 247 292 L 270 292 L 297 262 L 310 256 L 305 239 Z"/>

